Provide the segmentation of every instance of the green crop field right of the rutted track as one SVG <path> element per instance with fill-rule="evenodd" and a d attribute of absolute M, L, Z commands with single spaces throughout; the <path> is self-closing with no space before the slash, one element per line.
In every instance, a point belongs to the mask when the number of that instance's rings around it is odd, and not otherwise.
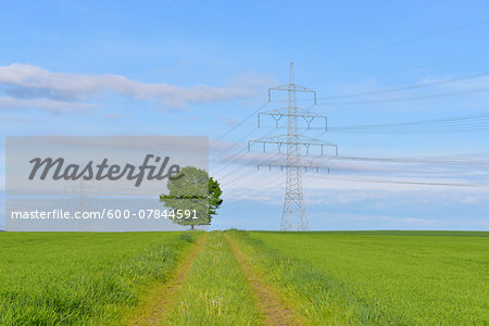
<path fill-rule="evenodd" d="M 236 233 L 315 323 L 487 325 L 487 233 Z"/>

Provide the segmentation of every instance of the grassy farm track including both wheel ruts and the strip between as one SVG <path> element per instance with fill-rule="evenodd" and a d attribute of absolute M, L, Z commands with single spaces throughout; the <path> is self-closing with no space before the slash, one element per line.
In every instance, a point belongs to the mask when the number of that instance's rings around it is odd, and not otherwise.
<path fill-rule="evenodd" d="M 224 233 L 203 235 L 128 325 L 304 325 Z"/>

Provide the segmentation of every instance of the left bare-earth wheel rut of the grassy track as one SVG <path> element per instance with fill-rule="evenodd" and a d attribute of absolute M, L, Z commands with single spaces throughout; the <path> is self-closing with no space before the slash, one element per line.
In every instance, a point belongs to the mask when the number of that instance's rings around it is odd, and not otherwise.
<path fill-rule="evenodd" d="M 202 235 L 193 250 L 175 269 L 173 277 L 150 290 L 138 314 L 126 325 L 162 325 L 166 313 L 174 306 L 175 298 L 181 289 L 193 260 L 202 251 L 208 234 Z"/>

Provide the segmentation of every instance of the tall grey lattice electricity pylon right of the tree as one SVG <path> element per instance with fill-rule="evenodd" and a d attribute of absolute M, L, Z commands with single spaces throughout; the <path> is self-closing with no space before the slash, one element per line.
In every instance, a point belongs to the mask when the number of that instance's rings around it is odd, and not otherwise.
<path fill-rule="evenodd" d="M 272 91 L 287 91 L 288 92 L 288 105 L 287 108 L 261 112 L 258 114 L 258 125 L 260 127 L 261 115 L 271 115 L 278 127 L 278 123 L 283 117 L 287 117 L 287 135 L 272 136 L 267 138 L 249 140 L 248 150 L 250 151 L 251 143 L 262 143 L 263 151 L 266 152 L 266 145 L 276 145 L 278 147 L 278 153 L 281 153 L 283 146 L 287 147 L 287 156 L 285 162 L 274 162 L 267 165 L 272 170 L 272 166 L 278 166 L 283 171 L 286 170 L 286 193 L 284 200 L 284 210 L 281 213 L 280 230 L 309 230 L 308 213 L 305 211 L 304 193 L 302 186 L 302 174 L 308 172 L 308 168 L 313 168 L 316 173 L 319 170 L 326 170 L 329 173 L 329 167 L 324 165 L 315 165 L 313 161 L 305 161 L 302 155 L 301 148 L 305 149 L 305 154 L 310 154 L 311 147 L 319 147 L 321 155 L 324 155 L 325 147 L 334 147 L 335 155 L 338 155 L 338 147 L 334 143 L 323 141 L 319 139 L 304 136 L 300 133 L 299 117 L 302 117 L 308 124 L 308 128 L 311 128 L 311 124 L 314 120 L 324 121 L 324 130 L 327 130 L 327 118 L 324 115 L 310 112 L 308 110 L 297 106 L 297 92 L 309 92 L 314 96 L 314 104 L 316 104 L 315 90 L 299 86 L 296 84 L 293 75 L 293 63 L 290 63 L 290 77 L 289 84 L 277 86 L 268 89 L 268 102 L 272 101 Z"/>

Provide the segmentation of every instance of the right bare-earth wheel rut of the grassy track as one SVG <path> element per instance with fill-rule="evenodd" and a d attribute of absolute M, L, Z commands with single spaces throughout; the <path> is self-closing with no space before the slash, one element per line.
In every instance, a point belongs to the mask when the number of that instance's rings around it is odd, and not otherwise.
<path fill-rule="evenodd" d="M 285 298 L 272 285 L 266 284 L 260 271 L 253 267 L 250 258 L 241 251 L 238 244 L 226 234 L 224 237 L 229 244 L 242 274 L 251 285 L 255 302 L 263 312 L 266 325 L 306 325 Z"/>

